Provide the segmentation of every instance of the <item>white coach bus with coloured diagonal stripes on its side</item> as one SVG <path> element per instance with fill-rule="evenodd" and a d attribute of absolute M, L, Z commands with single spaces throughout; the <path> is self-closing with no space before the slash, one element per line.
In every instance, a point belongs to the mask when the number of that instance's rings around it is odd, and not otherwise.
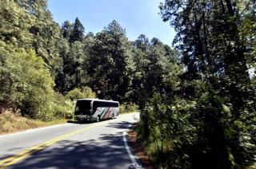
<path fill-rule="evenodd" d="M 76 101 L 74 119 L 99 121 L 119 115 L 119 102 L 113 100 L 79 99 Z"/>

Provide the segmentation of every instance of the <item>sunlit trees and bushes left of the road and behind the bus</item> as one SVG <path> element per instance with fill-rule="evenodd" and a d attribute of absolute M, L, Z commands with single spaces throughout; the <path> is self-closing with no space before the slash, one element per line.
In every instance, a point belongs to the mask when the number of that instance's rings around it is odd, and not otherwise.
<path fill-rule="evenodd" d="M 154 90 L 170 90 L 167 77 L 181 69 L 170 46 L 143 34 L 129 41 L 116 21 L 96 34 L 78 18 L 58 26 L 46 0 L 1 0 L 0 18 L 2 111 L 51 120 L 84 97 L 131 110 Z"/>

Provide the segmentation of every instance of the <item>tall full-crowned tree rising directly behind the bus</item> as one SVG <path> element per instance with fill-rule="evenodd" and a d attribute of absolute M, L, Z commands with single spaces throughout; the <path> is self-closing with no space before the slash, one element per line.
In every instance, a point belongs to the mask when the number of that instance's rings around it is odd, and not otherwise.
<path fill-rule="evenodd" d="M 125 100 L 130 91 L 130 74 L 134 70 L 125 29 L 118 22 L 111 22 L 96 34 L 90 56 L 88 73 L 94 78 L 91 81 L 94 90 L 101 92 L 99 96 L 102 98 Z"/>

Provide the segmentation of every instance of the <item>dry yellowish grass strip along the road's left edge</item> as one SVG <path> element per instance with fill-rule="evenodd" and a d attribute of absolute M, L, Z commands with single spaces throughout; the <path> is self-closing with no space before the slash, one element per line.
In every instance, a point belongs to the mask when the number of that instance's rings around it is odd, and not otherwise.
<path fill-rule="evenodd" d="M 31 120 L 26 117 L 14 115 L 11 112 L 4 112 L 3 114 L 0 114 L 0 135 L 11 132 L 20 132 L 30 128 L 40 128 L 63 123 L 66 123 L 66 120 L 63 119 L 45 122 L 40 120 Z"/>

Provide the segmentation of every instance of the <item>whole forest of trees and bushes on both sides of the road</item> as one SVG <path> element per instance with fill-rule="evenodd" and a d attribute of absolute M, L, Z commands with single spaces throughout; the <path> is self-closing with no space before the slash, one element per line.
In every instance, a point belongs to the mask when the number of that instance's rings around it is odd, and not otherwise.
<path fill-rule="evenodd" d="M 78 98 L 118 100 L 140 110 L 159 167 L 256 167 L 255 0 L 165 0 L 159 13 L 172 47 L 130 41 L 115 20 L 59 26 L 47 0 L 0 0 L 0 112 L 56 120 Z"/>

